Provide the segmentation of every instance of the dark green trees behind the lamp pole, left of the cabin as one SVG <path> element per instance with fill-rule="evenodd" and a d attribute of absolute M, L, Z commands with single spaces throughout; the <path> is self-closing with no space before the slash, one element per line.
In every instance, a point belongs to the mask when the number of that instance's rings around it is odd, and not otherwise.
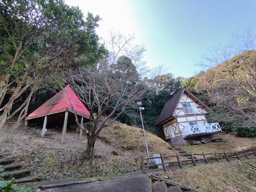
<path fill-rule="evenodd" d="M 165 103 L 172 98 L 181 89 L 181 82 L 183 78 L 173 78 L 172 74 L 159 75 L 154 78 L 154 84 L 146 92 L 146 94 L 140 99 L 143 107 L 142 111 L 143 123 L 145 129 L 151 133 L 164 139 L 164 132 L 161 126 L 155 126 Z M 141 127 L 140 111 L 136 107 L 136 103 L 133 103 L 133 108 L 127 110 L 119 117 L 122 123 L 128 125 L 136 125 Z"/>

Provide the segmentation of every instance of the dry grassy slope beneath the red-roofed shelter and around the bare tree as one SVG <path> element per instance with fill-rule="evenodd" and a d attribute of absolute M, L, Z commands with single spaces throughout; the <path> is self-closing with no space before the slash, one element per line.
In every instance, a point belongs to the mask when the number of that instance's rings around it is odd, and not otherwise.
<path fill-rule="evenodd" d="M 8 122 L 0 136 L 12 126 Z M 17 161 L 32 169 L 31 175 L 46 179 L 64 179 L 116 175 L 139 171 L 140 154 L 146 156 L 143 132 L 140 129 L 110 125 L 102 130 L 101 140 L 95 144 L 95 156 L 84 157 L 87 140 L 79 141 L 79 132 L 67 130 L 66 143 L 62 144 L 61 128 L 47 128 L 54 132 L 42 138 L 34 132 L 36 129 L 20 126 L 0 148 L 0 154 L 15 156 Z M 41 130 L 37 130 L 41 131 Z M 174 154 L 174 150 L 160 138 L 146 133 L 151 154 Z M 115 151 L 118 155 L 114 155 Z"/>

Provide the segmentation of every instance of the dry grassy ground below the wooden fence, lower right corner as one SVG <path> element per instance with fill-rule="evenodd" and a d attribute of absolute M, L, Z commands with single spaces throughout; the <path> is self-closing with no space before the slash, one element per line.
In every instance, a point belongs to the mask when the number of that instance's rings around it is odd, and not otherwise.
<path fill-rule="evenodd" d="M 256 158 L 246 162 L 256 165 Z M 243 161 L 200 165 L 157 174 L 204 192 L 256 191 L 256 170 Z"/>

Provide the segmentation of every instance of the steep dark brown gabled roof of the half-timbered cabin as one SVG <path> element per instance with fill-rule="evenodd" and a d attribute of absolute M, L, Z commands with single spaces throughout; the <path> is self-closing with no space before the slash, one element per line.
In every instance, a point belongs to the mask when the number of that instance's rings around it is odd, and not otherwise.
<path fill-rule="evenodd" d="M 212 109 L 208 108 L 202 101 L 200 101 L 199 99 L 196 98 L 195 95 L 193 95 L 191 92 L 189 92 L 186 89 L 181 89 L 179 92 L 177 92 L 169 101 L 167 101 L 164 105 L 164 108 L 160 114 L 160 116 L 158 117 L 157 121 L 156 121 L 156 125 L 162 123 L 163 121 L 169 119 L 170 117 L 173 116 L 181 96 L 183 95 L 183 93 L 186 92 L 188 96 L 193 97 L 195 100 L 197 100 L 202 106 L 204 106 L 209 113 L 212 112 Z"/>

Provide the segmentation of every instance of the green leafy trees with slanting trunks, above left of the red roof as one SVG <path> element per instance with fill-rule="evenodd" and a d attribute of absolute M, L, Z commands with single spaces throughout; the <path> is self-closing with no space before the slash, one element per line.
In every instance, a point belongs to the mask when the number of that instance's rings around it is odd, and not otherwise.
<path fill-rule="evenodd" d="M 95 33 L 100 17 L 62 0 L 0 2 L 0 129 L 26 116 L 33 94 L 63 82 L 63 72 L 96 64 L 105 48 Z M 25 98 L 25 100 L 23 100 Z M 15 102 L 20 102 L 12 110 Z"/>

